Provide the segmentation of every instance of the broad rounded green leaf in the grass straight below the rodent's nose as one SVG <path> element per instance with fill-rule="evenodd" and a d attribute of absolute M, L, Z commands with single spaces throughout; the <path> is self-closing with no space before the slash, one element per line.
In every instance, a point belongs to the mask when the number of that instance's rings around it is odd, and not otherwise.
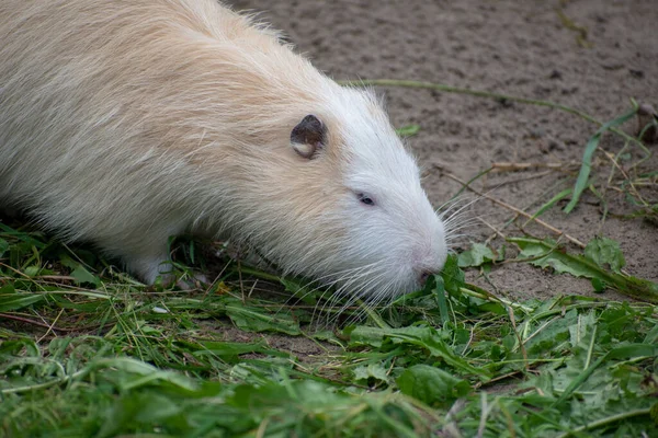
<path fill-rule="evenodd" d="M 405 395 L 412 396 L 430 406 L 444 406 L 470 391 L 466 380 L 428 365 L 407 368 L 396 381 Z"/>

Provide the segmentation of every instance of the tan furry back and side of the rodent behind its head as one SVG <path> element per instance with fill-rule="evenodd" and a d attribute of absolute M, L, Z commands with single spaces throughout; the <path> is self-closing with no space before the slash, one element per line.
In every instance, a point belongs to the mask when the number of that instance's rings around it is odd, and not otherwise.
<path fill-rule="evenodd" d="M 195 210 L 209 180 L 249 174 L 231 162 L 271 164 L 318 99 L 306 90 L 327 82 L 213 0 L 7 0 L 0 41 L 0 197 L 56 204 L 37 211 L 48 226 L 109 242 L 120 211 Z M 86 220 L 91 208 L 109 222 Z"/>

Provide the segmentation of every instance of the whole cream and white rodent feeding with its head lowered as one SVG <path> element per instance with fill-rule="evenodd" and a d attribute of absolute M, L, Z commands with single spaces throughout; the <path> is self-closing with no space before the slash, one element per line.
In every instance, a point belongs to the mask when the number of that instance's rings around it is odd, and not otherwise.
<path fill-rule="evenodd" d="M 215 0 L 2 0 L 0 203 L 147 283 L 190 232 L 377 302 L 446 258 L 418 166 L 344 88 Z"/>

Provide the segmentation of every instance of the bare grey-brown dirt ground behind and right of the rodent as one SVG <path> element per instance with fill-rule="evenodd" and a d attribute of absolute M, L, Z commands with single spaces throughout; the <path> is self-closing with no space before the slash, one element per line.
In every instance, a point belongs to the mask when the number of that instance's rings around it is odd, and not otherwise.
<path fill-rule="evenodd" d="M 405 79 L 547 100 L 579 108 L 606 122 L 629 108 L 629 97 L 658 104 L 658 8 L 636 1 L 229 1 L 236 10 L 260 11 L 282 30 L 298 51 L 334 79 Z M 561 4 L 560 4 L 561 3 Z M 585 35 L 578 28 L 587 32 Z M 556 110 L 402 88 L 384 93 L 392 120 L 418 124 L 408 143 L 426 168 L 424 186 L 439 206 L 461 185 L 434 166 L 466 181 L 495 162 L 578 163 L 597 126 Z M 636 120 L 624 125 L 633 134 Z M 601 147 L 617 152 L 624 140 L 604 136 Z M 651 148 L 656 152 L 657 147 Z M 632 147 L 632 160 L 640 155 Z M 611 162 L 602 153 L 592 174 L 605 181 Z M 644 171 L 658 169 L 650 160 Z M 475 187 L 515 207 L 534 211 L 575 183 L 576 172 L 545 169 L 490 173 Z M 616 175 L 620 176 L 619 173 Z M 611 212 L 626 215 L 629 204 L 608 192 Z M 656 203 L 658 193 L 649 193 Z M 566 201 L 558 205 L 564 207 Z M 643 219 L 609 216 L 585 194 L 570 215 L 553 208 L 543 218 L 587 242 L 605 235 L 620 242 L 629 274 L 658 280 L 658 228 Z M 491 201 L 477 201 L 472 218 L 501 229 L 513 217 Z M 503 230 L 513 234 L 515 227 Z M 518 231 L 518 230 L 517 230 Z M 551 235 L 529 226 L 525 231 Z M 484 241 L 492 230 L 478 222 L 469 239 Z M 494 240 L 494 245 L 501 239 Z M 457 250 L 468 246 L 468 239 Z M 474 279 L 474 278 L 470 278 Z M 546 297 L 589 295 L 588 280 L 542 272 L 526 264 L 496 267 L 490 276 L 501 293 Z M 613 292 L 606 292 L 615 298 Z M 617 297 L 619 298 L 619 297 Z"/>

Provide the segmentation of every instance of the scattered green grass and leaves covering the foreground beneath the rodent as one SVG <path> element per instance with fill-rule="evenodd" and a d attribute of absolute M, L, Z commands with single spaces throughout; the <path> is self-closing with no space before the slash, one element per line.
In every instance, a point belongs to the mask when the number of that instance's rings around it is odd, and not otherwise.
<path fill-rule="evenodd" d="M 208 290 L 154 289 L 84 249 L 2 224 L 0 435 L 656 434 L 658 308 L 501 299 L 458 266 L 487 268 L 487 254 L 452 256 L 426 290 L 378 315 L 348 310 L 353 321 L 331 331 L 309 325 L 332 316 L 314 313 L 319 292 L 292 303 L 271 285 L 243 299 L 231 262 Z M 590 263 L 619 267 L 621 254 L 605 254 Z M 253 285 L 243 277 L 242 289 Z M 227 339 L 231 326 L 268 334 Z M 276 334 L 316 353 L 277 347 Z"/>

